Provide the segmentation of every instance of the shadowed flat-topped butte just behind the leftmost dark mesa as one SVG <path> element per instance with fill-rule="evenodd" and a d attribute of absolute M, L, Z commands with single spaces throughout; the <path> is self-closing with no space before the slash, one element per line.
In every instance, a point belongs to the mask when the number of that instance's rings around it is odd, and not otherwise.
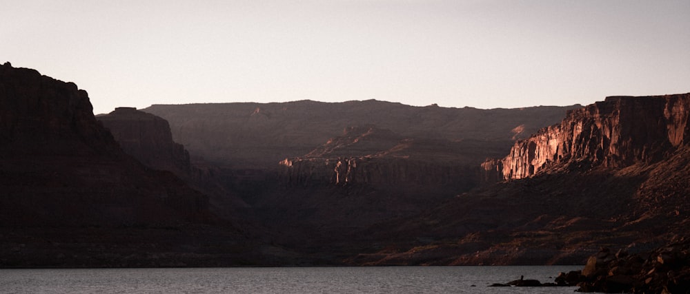
<path fill-rule="evenodd" d="M 167 120 L 131 107 L 118 107 L 110 114 L 97 116 L 97 120 L 127 154 L 144 165 L 172 171 L 181 178 L 190 177 L 189 153 L 172 140 Z"/>

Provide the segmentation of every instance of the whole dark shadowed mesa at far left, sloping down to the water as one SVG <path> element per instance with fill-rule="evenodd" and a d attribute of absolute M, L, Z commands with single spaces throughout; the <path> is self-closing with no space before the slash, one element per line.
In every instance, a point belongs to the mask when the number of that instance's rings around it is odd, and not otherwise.
<path fill-rule="evenodd" d="M 0 267 L 260 260 L 260 243 L 211 213 L 206 195 L 125 154 L 86 91 L 10 63 L 0 66 L 0 191 Z"/>

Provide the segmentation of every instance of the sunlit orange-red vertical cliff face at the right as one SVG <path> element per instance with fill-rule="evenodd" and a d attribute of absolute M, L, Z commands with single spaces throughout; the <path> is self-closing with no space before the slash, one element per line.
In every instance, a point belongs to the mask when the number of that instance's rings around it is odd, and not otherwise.
<path fill-rule="evenodd" d="M 484 171 L 498 171 L 498 178 L 512 180 L 532 176 L 554 162 L 589 160 L 604 167 L 655 162 L 690 140 L 689 112 L 690 94 L 607 97 L 571 110 L 560 124 L 517 141 L 500 164 L 485 162 Z"/>

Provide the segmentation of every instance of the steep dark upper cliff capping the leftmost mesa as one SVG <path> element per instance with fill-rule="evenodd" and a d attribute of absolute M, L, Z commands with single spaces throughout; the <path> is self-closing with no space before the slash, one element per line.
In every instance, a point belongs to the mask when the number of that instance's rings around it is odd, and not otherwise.
<path fill-rule="evenodd" d="M 86 91 L 74 83 L 10 63 L 0 67 L 0 81 L 1 149 L 17 155 L 107 154 L 119 149 L 96 123 Z"/>

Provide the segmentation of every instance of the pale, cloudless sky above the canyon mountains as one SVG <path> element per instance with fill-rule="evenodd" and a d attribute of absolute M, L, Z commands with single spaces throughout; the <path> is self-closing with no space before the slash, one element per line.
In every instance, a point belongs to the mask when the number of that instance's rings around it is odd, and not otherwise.
<path fill-rule="evenodd" d="M 516 108 L 690 92 L 690 1 L 0 0 L 0 63 L 152 104 Z"/>

